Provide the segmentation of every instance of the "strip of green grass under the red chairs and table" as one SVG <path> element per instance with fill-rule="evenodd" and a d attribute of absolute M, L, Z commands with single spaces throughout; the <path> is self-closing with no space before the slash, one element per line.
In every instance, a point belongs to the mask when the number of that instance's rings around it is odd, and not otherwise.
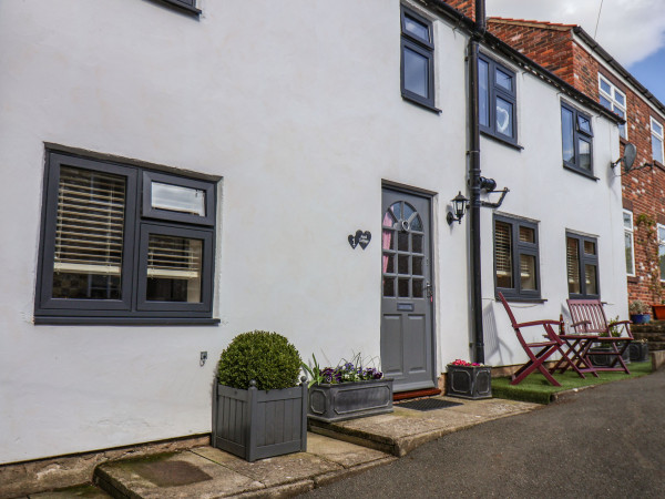
<path fill-rule="evenodd" d="M 618 381 L 621 379 L 638 378 L 651 374 L 651 361 L 628 364 L 630 375 L 625 373 L 598 373 L 598 377 L 586 374 L 582 379 L 574 370 L 569 369 L 564 374 L 554 375 L 554 379 L 561 386 L 552 386 L 545 377 L 538 373 L 526 376 L 519 385 L 511 385 L 510 377 L 492 378 L 492 396 L 495 398 L 509 398 L 511 400 L 530 401 L 535 404 L 550 404 L 554 395 L 560 391 L 573 390 L 587 386 L 602 385 L 604 383 Z"/>

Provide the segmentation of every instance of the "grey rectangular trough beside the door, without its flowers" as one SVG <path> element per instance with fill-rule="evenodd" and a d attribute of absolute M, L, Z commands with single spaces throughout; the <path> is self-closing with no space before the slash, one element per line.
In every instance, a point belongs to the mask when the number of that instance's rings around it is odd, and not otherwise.
<path fill-rule="evenodd" d="M 335 422 L 392 413 L 392 379 L 313 385 L 307 417 Z"/>

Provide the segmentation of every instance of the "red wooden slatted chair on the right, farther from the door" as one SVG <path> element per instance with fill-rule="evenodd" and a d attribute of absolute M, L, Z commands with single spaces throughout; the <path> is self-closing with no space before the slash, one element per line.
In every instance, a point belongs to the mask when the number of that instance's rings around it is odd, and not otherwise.
<path fill-rule="evenodd" d="M 633 340 L 633 334 L 631 333 L 631 322 L 620 320 L 614 323 L 616 327 L 622 327 L 626 332 L 626 336 L 613 337 L 610 334 L 610 324 L 605 317 L 605 309 L 600 299 L 569 299 L 569 310 L 571 312 L 571 319 L 573 323 L 571 326 L 575 329 L 575 333 L 582 335 L 598 335 L 593 338 L 592 343 L 589 343 L 584 352 L 583 357 L 590 359 L 594 355 L 606 355 L 614 357 L 607 367 L 594 366 L 594 370 L 623 370 L 626 374 L 631 374 L 626 367 L 626 363 L 623 359 L 623 354 L 628 348 L 628 345 Z M 606 336 L 600 336 L 606 335 Z M 605 352 L 591 352 L 593 343 L 597 343 L 604 346 L 608 346 L 610 350 Z"/>

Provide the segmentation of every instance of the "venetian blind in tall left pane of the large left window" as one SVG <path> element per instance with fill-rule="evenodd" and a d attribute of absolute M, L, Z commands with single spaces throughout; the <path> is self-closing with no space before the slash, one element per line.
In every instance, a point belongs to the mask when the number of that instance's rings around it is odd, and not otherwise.
<path fill-rule="evenodd" d="M 124 177 L 62 166 L 53 271 L 120 275 L 124 211 Z"/>

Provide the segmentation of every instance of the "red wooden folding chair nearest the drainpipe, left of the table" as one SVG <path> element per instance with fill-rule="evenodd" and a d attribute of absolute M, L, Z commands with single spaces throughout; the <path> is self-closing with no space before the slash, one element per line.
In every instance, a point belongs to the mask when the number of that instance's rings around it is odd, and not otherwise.
<path fill-rule="evenodd" d="M 503 308 L 505 308 L 505 312 L 510 317 L 510 322 L 515 332 L 515 335 L 518 335 L 518 340 L 520 342 L 520 345 L 522 345 L 522 348 L 524 348 L 524 352 L 529 356 L 529 361 L 515 371 L 510 384 L 520 384 L 522 379 L 524 379 L 526 376 L 529 376 L 531 373 L 538 369 L 552 385 L 561 386 L 561 384 L 552 377 L 552 375 L 545 368 L 545 366 L 543 366 L 543 363 L 556 352 L 561 353 L 561 355 L 570 363 L 570 359 L 562 350 L 564 342 L 561 338 L 559 338 L 559 336 L 556 336 L 556 332 L 553 327 L 559 327 L 561 325 L 561 320 L 532 320 L 529 323 L 518 323 L 502 293 L 499 293 L 499 298 L 501 299 Z M 523 327 L 530 326 L 542 326 L 545 329 L 545 334 L 543 336 L 546 338 L 546 340 L 528 343 L 524 339 L 521 329 Z M 533 349 L 535 349 L 536 352 L 533 352 Z"/>

